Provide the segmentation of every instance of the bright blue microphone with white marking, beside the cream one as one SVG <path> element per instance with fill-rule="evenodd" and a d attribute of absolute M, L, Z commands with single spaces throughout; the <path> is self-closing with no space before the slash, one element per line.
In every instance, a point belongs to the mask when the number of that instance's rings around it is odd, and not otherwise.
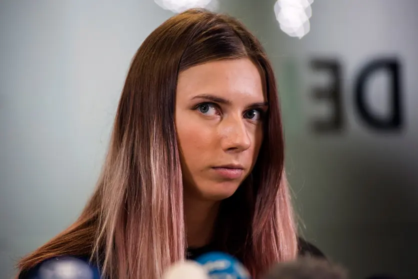
<path fill-rule="evenodd" d="M 251 279 L 243 264 L 226 253 L 206 253 L 197 257 L 195 261 L 203 266 L 212 279 Z"/>

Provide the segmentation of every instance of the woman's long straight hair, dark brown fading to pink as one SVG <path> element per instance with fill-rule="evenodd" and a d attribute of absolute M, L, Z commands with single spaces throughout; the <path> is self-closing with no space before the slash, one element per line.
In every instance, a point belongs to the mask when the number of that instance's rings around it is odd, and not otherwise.
<path fill-rule="evenodd" d="M 221 203 L 214 242 L 254 277 L 296 256 L 296 228 L 283 167 L 283 134 L 272 66 L 237 19 L 189 9 L 157 27 L 133 57 L 96 189 L 79 218 L 18 263 L 91 256 L 108 278 L 159 278 L 184 260 L 183 184 L 174 126 L 179 72 L 208 61 L 249 58 L 269 103 L 251 174 Z M 239 209 L 239 210 L 238 210 Z"/>

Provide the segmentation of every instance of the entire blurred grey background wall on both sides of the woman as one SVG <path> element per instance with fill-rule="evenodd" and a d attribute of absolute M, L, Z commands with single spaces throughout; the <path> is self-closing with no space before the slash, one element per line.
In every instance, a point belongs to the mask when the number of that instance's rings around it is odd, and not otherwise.
<path fill-rule="evenodd" d="M 280 30 L 273 5 L 219 0 L 220 11 L 256 33 L 276 69 L 301 231 L 352 278 L 416 278 L 418 2 L 315 0 L 301 39 Z M 0 1 L 1 278 L 75 220 L 101 167 L 130 59 L 172 14 L 152 0 Z M 399 64 L 397 130 L 368 126 L 355 106 L 359 72 L 382 57 Z M 340 66 L 343 124 L 333 131 L 312 130 L 334 115 L 332 102 L 312 97 L 333 82 L 313 59 Z M 381 117 L 391 108 L 387 77 L 370 74 L 365 86 L 369 110 Z"/>

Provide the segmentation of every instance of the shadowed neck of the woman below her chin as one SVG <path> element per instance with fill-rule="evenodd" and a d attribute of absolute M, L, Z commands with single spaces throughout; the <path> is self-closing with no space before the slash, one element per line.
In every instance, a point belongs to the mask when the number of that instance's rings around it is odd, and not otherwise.
<path fill-rule="evenodd" d="M 187 246 L 198 248 L 210 242 L 220 201 L 184 197 Z"/>

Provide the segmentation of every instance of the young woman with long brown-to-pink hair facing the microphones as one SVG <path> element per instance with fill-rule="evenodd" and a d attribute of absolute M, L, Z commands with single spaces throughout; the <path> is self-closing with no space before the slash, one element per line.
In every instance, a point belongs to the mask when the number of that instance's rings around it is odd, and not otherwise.
<path fill-rule="evenodd" d="M 283 153 L 260 42 L 232 17 L 177 14 L 131 62 L 91 199 L 19 262 L 19 276 L 72 256 L 106 278 L 159 278 L 173 262 L 221 250 L 257 277 L 309 249 L 296 236 Z"/>

